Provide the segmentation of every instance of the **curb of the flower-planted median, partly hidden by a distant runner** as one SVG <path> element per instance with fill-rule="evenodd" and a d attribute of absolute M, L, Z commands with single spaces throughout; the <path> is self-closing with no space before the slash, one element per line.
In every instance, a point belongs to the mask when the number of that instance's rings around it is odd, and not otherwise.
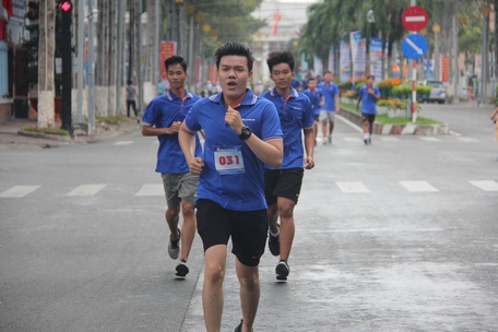
<path fill-rule="evenodd" d="M 341 116 L 361 127 L 361 116 L 348 109 L 341 109 Z M 450 134 L 448 123 L 442 124 L 382 124 L 374 122 L 375 134 L 416 134 L 416 135 L 442 135 Z"/>

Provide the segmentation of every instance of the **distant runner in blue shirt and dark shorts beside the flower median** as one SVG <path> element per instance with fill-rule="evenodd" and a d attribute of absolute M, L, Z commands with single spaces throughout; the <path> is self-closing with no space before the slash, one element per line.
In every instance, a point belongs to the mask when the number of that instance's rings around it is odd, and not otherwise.
<path fill-rule="evenodd" d="M 356 109 L 359 109 L 359 104 L 361 104 L 361 121 L 365 145 L 371 144 L 371 134 L 374 132 L 374 122 L 376 120 L 377 100 L 380 98 L 379 87 L 374 86 L 374 75 L 367 76 L 367 84 L 359 88 L 358 104 L 356 105 Z"/>

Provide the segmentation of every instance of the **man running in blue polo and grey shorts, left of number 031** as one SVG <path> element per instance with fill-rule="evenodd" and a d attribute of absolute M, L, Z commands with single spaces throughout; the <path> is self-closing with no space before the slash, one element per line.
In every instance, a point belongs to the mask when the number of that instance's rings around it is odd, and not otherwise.
<path fill-rule="evenodd" d="M 170 88 L 149 104 L 142 117 L 142 134 L 155 135 L 159 140 L 156 171 L 163 178 L 166 194 L 166 222 L 170 236 L 168 252 L 171 259 L 180 260 L 176 266 L 176 275 L 185 277 L 189 273 L 187 260 L 193 237 L 195 236 L 194 197 L 199 176 L 190 174 L 189 166 L 178 142 L 178 130 L 192 105 L 200 99 L 185 90 L 187 80 L 187 62 L 179 56 L 173 56 L 165 61 L 166 76 Z M 195 154 L 200 155 L 202 147 L 195 140 Z M 178 228 L 179 213 L 183 225 Z M 181 238 L 181 254 L 179 241 Z"/>

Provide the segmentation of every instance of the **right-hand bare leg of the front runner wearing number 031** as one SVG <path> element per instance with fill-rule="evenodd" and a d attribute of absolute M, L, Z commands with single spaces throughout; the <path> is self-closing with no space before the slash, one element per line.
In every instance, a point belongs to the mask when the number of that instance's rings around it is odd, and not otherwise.
<path fill-rule="evenodd" d="M 240 307 L 242 309 L 242 332 L 252 331 L 260 298 L 258 266 L 248 266 L 236 259 L 235 268 L 240 283 Z M 205 313 L 204 313 L 205 315 Z"/>

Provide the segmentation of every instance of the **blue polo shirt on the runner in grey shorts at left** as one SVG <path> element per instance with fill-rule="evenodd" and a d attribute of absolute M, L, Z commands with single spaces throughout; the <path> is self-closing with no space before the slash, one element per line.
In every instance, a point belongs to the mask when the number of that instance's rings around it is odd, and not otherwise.
<path fill-rule="evenodd" d="M 198 95 L 186 91 L 186 97 L 181 100 L 169 90 L 164 95 L 151 100 L 143 112 L 142 123 L 156 128 L 168 128 L 175 121 L 182 122 L 192 105 L 200 98 Z M 157 137 L 157 140 L 159 141 L 159 149 L 157 150 L 156 171 L 189 173 L 190 168 L 178 142 L 178 133 L 162 134 Z M 202 147 L 199 138 L 195 135 L 195 155 L 201 153 Z"/>

